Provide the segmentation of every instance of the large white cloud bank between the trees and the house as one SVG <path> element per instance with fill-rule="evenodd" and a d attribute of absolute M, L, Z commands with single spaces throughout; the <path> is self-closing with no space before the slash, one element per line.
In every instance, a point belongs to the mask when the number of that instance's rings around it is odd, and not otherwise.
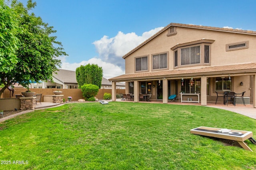
<path fill-rule="evenodd" d="M 146 39 L 160 31 L 163 27 L 158 27 L 150 31 L 144 32 L 141 36 L 136 33 L 124 34 L 121 31 L 115 37 L 109 38 L 104 35 L 100 40 L 94 41 L 98 57 L 89 59 L 88 61 L 81 61 L 80 63 L 67 63 L 66 57 L 59 57 L 62 61 L 62 69 L 76 70 L 81 65 L 98 64 L 103 69 L 103 77 L 112 78 L 125 74 L 124 56 L 126 53 L 140 45 Z"/>

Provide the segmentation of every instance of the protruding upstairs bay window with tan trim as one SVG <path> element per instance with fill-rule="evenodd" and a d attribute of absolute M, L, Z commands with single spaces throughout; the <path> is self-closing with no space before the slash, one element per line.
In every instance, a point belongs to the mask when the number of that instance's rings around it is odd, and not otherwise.
<path fill-rule="evenodd" d="M 174 51 L 174 68 L 209 65 L 210 47 L 214 40 L 202 39 L 189 43 L 177 44 L 171 49 Z"/>

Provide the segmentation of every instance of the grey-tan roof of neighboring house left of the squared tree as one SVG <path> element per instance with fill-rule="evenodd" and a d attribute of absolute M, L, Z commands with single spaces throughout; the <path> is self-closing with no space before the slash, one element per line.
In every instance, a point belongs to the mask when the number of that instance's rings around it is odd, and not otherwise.
<path fill-rule="evenodd" d="M 57 74 L 54 73 L 53 77 L 60 82 L 64 84 L 77 84 L 75 71 L 59 69 L 56 72 Z"/>

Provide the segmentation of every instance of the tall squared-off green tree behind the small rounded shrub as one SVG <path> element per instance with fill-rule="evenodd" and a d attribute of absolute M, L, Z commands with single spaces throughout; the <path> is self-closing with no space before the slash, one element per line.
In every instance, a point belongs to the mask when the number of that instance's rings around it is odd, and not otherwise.
<path fill-rule="evenodd" d="M 76 68 L 76 81 L 79 88 L 84 84 L 94 84 L 100 88 L 102 76 L 103 70 L 98 64 L 81 65 Z"/>

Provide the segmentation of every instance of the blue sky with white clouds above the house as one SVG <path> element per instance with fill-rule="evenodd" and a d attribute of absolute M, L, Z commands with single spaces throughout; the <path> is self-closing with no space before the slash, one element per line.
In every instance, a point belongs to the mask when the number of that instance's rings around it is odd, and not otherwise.
<path fill-rule="evenodd" d="M 26 4 L 26 0 L 19 0 Z M 62 69 L 88 63 L 104 77 L 124 74 L 122 56 L 169 23 L 256 31 L 255 0 L 36 0 L 32 12 L 53 26 L 68 57 Z"/>

